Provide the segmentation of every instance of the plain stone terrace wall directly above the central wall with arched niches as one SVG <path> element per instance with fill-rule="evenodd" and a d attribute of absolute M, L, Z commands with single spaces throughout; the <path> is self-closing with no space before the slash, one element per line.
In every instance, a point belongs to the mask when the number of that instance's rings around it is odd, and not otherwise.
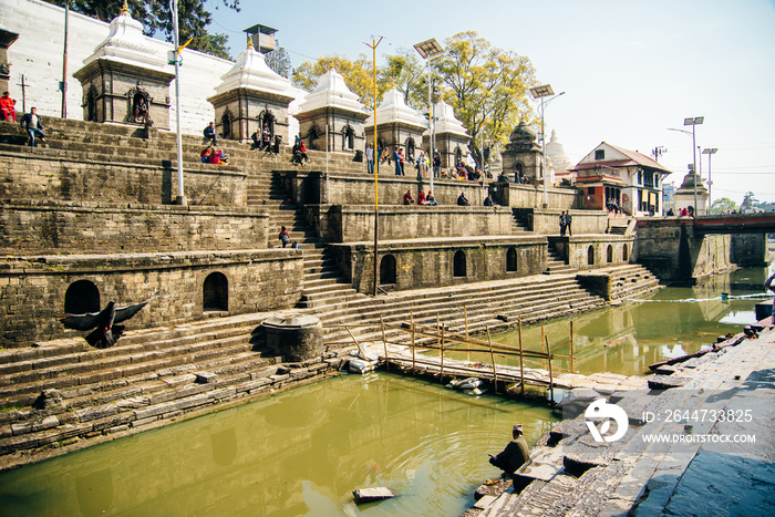
<path fill-rule="evenodd" d="M 374 240 L 374 207 L 304 207 L 318 236 L 330 242 Z M 381 206 L 379 238 L 427 239 L 512 235 L 512 210 L 506 207 Z"/>

